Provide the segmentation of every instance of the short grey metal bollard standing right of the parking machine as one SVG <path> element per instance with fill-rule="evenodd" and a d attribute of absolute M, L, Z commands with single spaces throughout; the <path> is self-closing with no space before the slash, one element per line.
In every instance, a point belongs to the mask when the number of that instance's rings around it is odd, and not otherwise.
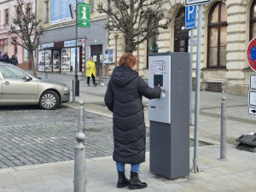
<path fill-rule="evenodd" d="M 226 160 L 226 98 L 222 97 L 221 102 L 221 122 L 220 122 L 220 160 Z"/>

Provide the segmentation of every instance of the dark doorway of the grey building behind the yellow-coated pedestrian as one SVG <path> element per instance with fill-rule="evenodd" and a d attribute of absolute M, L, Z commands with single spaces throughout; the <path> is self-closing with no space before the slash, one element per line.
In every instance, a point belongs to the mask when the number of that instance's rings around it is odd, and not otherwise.
<path fill-rule="evenodd" d="M 102 69 L 102 44 L 91 45 L 90 56 L 96 64 L 96 76 L 99 76 Z"/>

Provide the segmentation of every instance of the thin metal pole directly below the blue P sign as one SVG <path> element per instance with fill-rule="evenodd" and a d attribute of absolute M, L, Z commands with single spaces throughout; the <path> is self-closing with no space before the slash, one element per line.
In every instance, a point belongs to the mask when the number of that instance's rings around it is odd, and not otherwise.
<path fill-rule="evenodd" d="M 189 65 L 189 125 L 193 125 L 191 110 L 192 110 L 192 70 L 193 70 L 193 41 L 194 29 L 190 31 L 190 65 Z"/>

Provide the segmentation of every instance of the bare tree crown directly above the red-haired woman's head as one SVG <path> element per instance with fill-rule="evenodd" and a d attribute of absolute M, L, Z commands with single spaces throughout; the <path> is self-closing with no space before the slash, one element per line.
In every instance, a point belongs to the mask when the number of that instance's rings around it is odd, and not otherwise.
<path fill-rule="evenodd" d="M 166 0 L 109 1 L 110 6 L 98 3 L 97 9 L 109 16 L 106 29 L 110 32 L 123 32 L 125 52 L 132 53 L 137 49 L 138 44 L 159 35 L 159 29 L 167 29 L 171 21 L 165 17 L 162 8 Z"/>

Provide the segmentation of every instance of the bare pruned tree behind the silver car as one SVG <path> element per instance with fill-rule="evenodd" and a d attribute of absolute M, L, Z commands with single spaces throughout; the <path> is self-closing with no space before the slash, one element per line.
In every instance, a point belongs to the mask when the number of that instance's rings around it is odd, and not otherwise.
<path fill-rule="evenodd" d="M 44 29 L 42 21 L 37 20 L 36 15 L 32 13 L 31 6 L 32 3 L 16 0 L 16 17 L 11 20 L 9 34 L 12 38 L 11 44 L 20 45 L 28 51 L 33 75 L 37 76 L 33 53 L 38 48 L 40 36 L 43 35 Z"/>

